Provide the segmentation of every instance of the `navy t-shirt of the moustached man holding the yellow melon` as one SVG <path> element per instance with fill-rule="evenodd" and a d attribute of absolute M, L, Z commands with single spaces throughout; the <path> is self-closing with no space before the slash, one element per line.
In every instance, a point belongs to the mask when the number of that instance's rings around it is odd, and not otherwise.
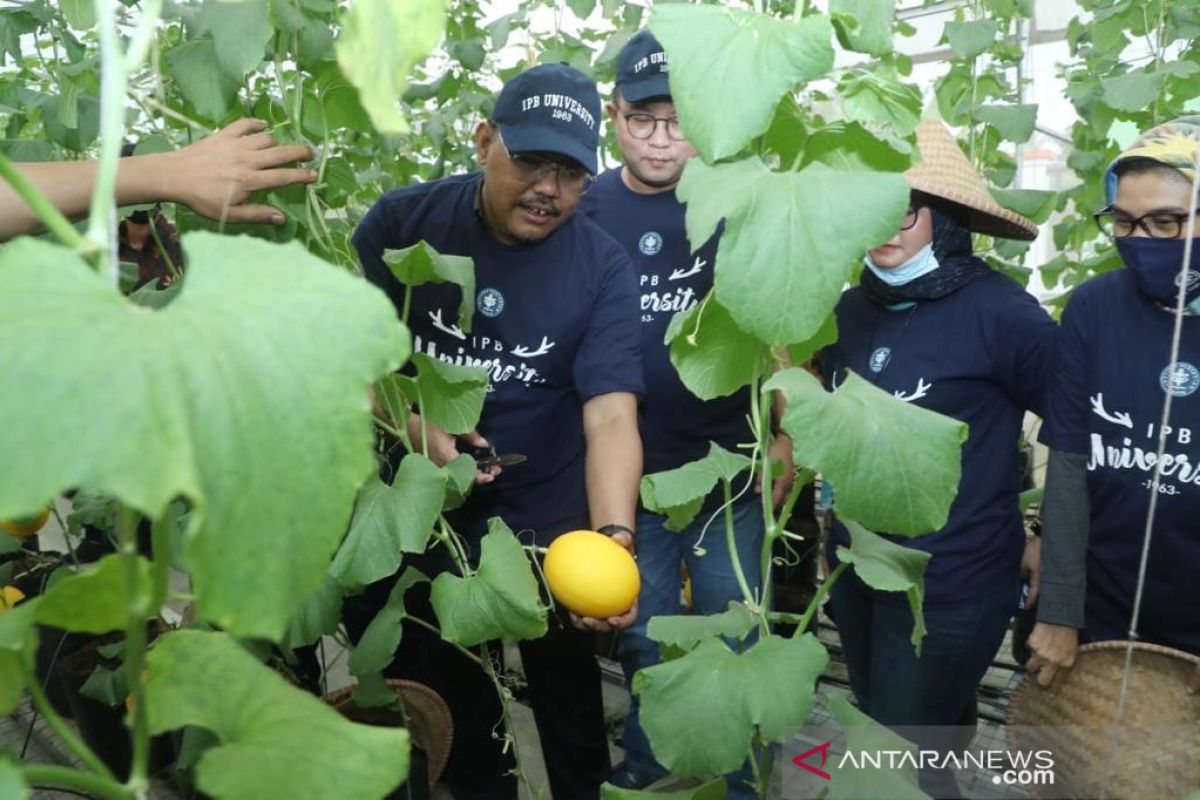
<path fill-rule="evenodd" d="M 637 287 L 629 257 L 592 221 L 572 215 L 545 240 L 504 245 L 479 216 L 480 174 L 384 194 L 354 233 L 367 279 L 403 308 L 404 287 L 384 249 L 420 240 L 475 261 L 470 332 L 457 325 L 462 290 L 424 284 L 408 317 L 413 349 L 491 373 L 479 432 L 528 461 L 476 486 L 449 518 L 468 540 L 488 517 L 547 543 L 588 527 L 582 405 L 607 392 L 642 392 Z"/>

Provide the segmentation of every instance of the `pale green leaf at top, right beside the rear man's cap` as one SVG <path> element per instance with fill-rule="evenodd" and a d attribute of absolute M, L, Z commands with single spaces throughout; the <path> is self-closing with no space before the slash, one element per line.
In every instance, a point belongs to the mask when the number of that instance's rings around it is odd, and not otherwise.
<path fill-rule="evenodd" d="M 650 30 L 671 59 L 671 97 L 684 133 L 708 162 L 742 150 L 767 130 L 785 92 L 833 67 L 833 28 L 823 16 L 793 23 L 670 4 L 655 6 Z"/>

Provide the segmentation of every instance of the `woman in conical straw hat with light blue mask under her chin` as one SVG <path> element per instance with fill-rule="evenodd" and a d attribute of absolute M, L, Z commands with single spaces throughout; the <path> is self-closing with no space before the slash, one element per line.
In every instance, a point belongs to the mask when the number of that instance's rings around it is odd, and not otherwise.
<path fill-rule="evenodd" d="M 971 249 L 972 231 L 1032 240 L 1036 225 L 992 200 L 941 121 L 922 122 L 917 144 L 922 163 L 906 173 L 908 215 L 866 254 L 860 284 L 842 295 L 840 338 L 823 351 L 822 367 L 834 385 L 852 369 L 902 401 L 966 422 L 962 479 L 944 528 L 895 537 L 931 557 L 919 654 L 905 595 L 875 591 L 847 573 L 833 587 L 832 608 L 859 706 L 890 727 L 919 726 L 904 733 L 923 750 L 946 750 L 954 736 L 944 727 L 973 709 L 1018 607 L 1025 551 L 1018 443 L 1025 410 L 1042 407 L 1055 325 Z M 847 542 L 835 525 L 830 558 Z M 948 770 L 923 771 L 920 780 L 932 796 L 959 796 Z"/>

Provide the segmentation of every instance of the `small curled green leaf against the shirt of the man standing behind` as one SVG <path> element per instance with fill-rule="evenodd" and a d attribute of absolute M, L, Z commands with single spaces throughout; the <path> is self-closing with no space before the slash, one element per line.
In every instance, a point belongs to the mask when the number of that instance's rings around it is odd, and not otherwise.
<path fill-rule="evenodd" d="M 750 384 L 767 348 L 745 333 L 712 293 L 671 318 L 666 343 L 679 379 L 701 399 L 725 397 Z"/>

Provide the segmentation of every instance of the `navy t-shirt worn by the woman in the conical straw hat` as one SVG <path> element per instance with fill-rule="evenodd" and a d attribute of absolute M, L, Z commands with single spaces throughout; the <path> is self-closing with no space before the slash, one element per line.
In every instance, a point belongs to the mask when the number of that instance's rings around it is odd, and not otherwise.
<path fill-rule="evenodd" d="M 854 287 L 841 296 L 836 315 L 839 339 L 821 356 L 827 380 L 840 383 L 842 371 L 852 369 L 970 428 L 962 479 L 946 525 L 913 539 L 894 537 L 932 554 L 925 601 L 958 602 L 979 590 L 1012 588 L 1015 608 L 1025 546 L 1016 504 L 1021 422 L 1026 409 L 1042 409 L 1054 321 L 998 272 L 898 311 L 868 300 Z M 836 525 L 832 543 L 848 541 L 845 528 Z M 834 557 L 835 547 L 829 551 Z"/>

